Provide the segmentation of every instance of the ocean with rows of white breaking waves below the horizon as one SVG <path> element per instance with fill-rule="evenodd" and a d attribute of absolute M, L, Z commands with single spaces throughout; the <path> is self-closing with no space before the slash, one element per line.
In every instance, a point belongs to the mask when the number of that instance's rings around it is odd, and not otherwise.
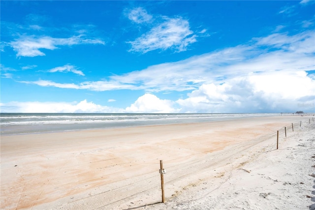
<path fill-rule="evenodd" d="M 278 114 L 1 113 L 0 134 L 14 135 L 146 125 L 198 123 L 274 115 Z"/>

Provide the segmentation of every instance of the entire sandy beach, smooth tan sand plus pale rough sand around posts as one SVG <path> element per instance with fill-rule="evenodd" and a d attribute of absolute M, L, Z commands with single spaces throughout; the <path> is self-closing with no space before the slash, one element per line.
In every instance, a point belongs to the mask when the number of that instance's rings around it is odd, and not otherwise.
<path fill-rule="evenodd" d="M 272 116 L 1 136 L 1 209 L 313 210 L 314 131 Z"/>

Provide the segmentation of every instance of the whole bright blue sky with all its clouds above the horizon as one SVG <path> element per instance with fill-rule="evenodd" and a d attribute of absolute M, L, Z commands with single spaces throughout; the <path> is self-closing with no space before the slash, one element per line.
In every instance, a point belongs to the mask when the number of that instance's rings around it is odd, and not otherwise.
<path fill-rule="evenodd" d="M 315 1 L 0 1 L 1 112 L 315 112 Z"/>

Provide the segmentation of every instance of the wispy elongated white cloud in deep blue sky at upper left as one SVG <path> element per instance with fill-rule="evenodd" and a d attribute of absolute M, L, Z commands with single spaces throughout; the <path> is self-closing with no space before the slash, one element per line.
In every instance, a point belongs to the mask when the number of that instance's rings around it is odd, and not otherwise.
<path fill-rule="evenodd" d="M 35 57 L 44 56 L 40 49 L 57 49 L 57 46 L 71 46 L 75 44 L 104 44 L 100 39 L 89 39 L 84 35 L 71 36 L 69 38 L 53 38 L 50 36 L 21 36 L 11 41 L 10 46 L 17 52 L 16 56 Z"/>

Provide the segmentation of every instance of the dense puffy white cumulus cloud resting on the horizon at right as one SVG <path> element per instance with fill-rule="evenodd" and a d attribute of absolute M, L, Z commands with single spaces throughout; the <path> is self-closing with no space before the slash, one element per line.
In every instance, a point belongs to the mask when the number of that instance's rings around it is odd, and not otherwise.
<path fill-rule="evenodd" d="M 305 71 L 260 72 L 203 84 L 177 103 L 181 112 L 286 112 L 314 104 L 314 85 Z"/>

